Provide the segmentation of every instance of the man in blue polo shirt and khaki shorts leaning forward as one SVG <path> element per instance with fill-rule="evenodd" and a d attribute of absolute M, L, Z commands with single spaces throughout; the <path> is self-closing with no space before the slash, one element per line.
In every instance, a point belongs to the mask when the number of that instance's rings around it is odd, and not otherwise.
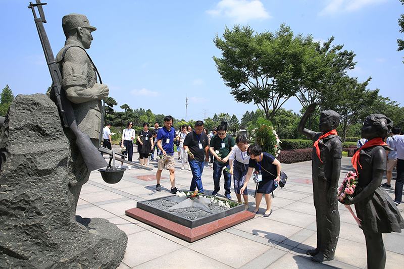
<path fill-rule="evenodd" d="M 176 135 L 175 130 L 173 127 L 171 127 L 171 125 L 173 125 L 173 117 L 166 116 L 164 118 L 164 127 L 161 128 L 157 133 L 157 146 L 161 150 L 163 158 L 160 158 L 160 156 L 157 157 L 158 170 L 156 173 L 156 179 L 157 179 L 156 190 L 161 191 L 160 178 L 165 165 L 166 168 L 170 171 L 170 181 L 171 181 L 170 192 L 176 194 L 178 191 L 178 189 L 175 187 L 174 184 L 175 179 L 174 138 L 176 137 Z"/>

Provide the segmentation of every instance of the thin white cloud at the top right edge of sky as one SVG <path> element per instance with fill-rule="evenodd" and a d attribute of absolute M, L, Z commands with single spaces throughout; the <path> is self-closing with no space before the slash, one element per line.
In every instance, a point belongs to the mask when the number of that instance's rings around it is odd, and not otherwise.
<path fill-rule="evenodd" d="M 328 0 L 328 5 L 319 15 L 333 15 L 337 13 L 353 12 L 370 5 L 378 5 L 388 0 Z"/>

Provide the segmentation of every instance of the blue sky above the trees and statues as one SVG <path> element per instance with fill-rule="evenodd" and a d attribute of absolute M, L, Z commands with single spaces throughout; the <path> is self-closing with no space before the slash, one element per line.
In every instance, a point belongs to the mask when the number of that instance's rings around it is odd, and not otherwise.
<path fill-rule="evenodd" d="M 65 42 L 64 15 L 84 14 L 97 27 L 87 51 L 110 96 L 132 109 L 185 119 L 188 96 L 187 120 L 221 112 L 240 119 L 246 110 L 256 110 L 252 103 L 234 101 L 212 59 L 221 56 L 212 40 L 234 24 L 274 32 L 281 23 L 316 40 L 334 36 L 334 44 L 357 55 L 350 76 L 359 81 L 371 76 L 370 89 L 379 88 L 382 96 L 404 105 L 404 51 L 396 51 L 397 38 L 404 38 L 397 23 L 404 6 L 398 0 L 42 2 L 47 3 L 45 30 L 55 55 Z M 51 85 L 28 4 L 0 0 L 0 89 L 8 84 L 15 95 L 45 93 Z M 295 98 L 283 107 L 301 109 Z"/>

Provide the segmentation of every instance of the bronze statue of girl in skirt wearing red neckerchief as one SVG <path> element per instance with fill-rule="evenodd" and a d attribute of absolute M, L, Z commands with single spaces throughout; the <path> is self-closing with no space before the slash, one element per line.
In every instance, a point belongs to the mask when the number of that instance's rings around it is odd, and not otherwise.
<path fill-rule="evenodd" d="M 361 229 L 366 239 L 368 268 L 384 268 L 386 250 L 382 233 L 400 233 L 404 220 L 394 201 L 380 187 L 387 167 L 385 150 L 391 150 L 383 138 L 391 131 L 393 122 L 382 114 L 366 117 L 362 137 L 368 141 L 352 157 L 352 166 L 358 172 L 358 185 L 354 197 L 344 204 L 355 204 Z"/>

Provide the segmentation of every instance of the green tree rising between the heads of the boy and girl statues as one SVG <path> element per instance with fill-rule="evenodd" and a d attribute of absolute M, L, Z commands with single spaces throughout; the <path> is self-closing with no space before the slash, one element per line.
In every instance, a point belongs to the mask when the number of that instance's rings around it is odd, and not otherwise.
<path fill-rule="evenodd" d="M 323 93 L 323 108 L 334 110 L 341 116 L 343 142 L 349 126 L 362 120 L 366 108 L 371 106 L 378 96 L 379 89 L 366 89 L 371 79 L 370 77 L 359 83 L 358 78 L 345 76 L 336 81 L 332 90 Z"/>

